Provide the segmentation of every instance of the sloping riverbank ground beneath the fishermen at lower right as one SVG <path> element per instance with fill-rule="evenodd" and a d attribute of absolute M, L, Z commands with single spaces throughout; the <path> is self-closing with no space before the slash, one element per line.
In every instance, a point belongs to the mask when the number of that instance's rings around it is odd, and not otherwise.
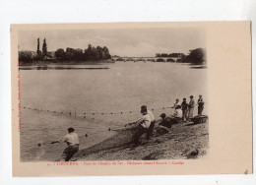
<path fill-rule="evenodd" d="M 208 121 L 172 125 L 169 132 L 162 135 L 155 129 L 150 141 L 143 135 L 142 144 L 133 148 L 130 143 L 135 131 L 135 127 L 119 130 L 115 136 L 81 150 L 72 160 L 186 159 L 202 157 L 209 148 Z"/>

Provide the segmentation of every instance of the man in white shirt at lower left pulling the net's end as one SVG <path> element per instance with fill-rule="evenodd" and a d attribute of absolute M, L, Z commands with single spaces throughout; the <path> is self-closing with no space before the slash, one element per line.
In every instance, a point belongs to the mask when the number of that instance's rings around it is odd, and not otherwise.
<path fill-rule="evenodd" d="M 66 142 L 68 147 L 63 151 L 62 158 L 65 159 L 65 161 L 69 161 L 70 158 L 76 154 L 79 150 L 79 139 L 78 135 L 74 132 L 74 128 L 69 128 L 68 132 L 69 134 L 63 136 L 57 141 L 51 142 L 51 144 L 55 143 L 63 143 Z"/>

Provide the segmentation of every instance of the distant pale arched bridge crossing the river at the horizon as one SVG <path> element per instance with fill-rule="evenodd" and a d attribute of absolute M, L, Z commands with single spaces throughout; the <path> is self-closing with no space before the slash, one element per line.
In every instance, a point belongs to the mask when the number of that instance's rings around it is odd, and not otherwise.
<path fill-rule="evenodd" d="M 113 56 L 112 60 L 116 61 L 123 61 L 123 62 L 177 62 L 180 57 L 117 57 Z"/>

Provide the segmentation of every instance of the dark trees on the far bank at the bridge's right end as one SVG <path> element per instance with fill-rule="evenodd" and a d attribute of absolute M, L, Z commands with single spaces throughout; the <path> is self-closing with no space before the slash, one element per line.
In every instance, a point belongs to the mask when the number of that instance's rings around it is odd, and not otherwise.
<path fill-rule="evenodd" d="M 206 50 L 204 48 L 196 48 L 189 50 L 189 54 L 184 53 L 157 53 L 156 57 L 180 57 L 177 62 L 202 64 L 206 62 Z"/>

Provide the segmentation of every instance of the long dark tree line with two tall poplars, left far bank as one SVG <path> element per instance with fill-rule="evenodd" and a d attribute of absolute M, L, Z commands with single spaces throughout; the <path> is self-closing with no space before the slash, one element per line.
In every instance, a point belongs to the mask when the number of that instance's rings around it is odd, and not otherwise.
<path fill-rule="evenodd" d="M 40 41 L 37 38 L 37 48 L 34 51 L 19 51 L 19 61 L 24 63 L 32 63 L 33 61 L 53 60 L 58 61 L 88 61 L 88 60 L 106 60 L 110 59 L 111 55 L 106 46 L 88 45 L 86 49 L 74 49 L 67 47 L 66 50 L 59 48 L 56 51 L 48 52 L 46 39 L 43 39 L 42 49 L 40 50 Z"/>

